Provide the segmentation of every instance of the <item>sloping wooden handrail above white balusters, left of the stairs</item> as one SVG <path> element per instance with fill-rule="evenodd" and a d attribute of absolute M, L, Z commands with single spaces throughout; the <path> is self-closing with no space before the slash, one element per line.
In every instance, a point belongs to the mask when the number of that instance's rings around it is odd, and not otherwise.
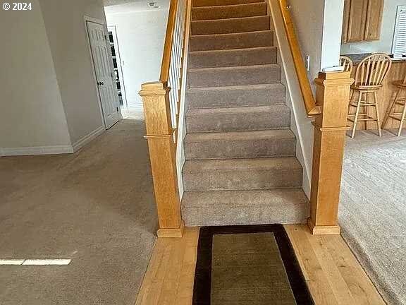
<path fill-rule="evenodd" d="M 168 83 L 169 79 L 176 11 L 178 11 L 178 0 L 171 0 L 168 13 L 168 24 L 166 25 L 164 54 L 162 55 L 161 76 L 159 76 L 159 80 L 161 80 L 162 83 Z"/>

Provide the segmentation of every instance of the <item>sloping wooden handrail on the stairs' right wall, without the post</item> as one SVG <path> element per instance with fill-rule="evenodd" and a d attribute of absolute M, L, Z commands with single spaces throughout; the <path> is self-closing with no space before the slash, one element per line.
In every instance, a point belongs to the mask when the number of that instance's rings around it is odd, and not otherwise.
<path fill-rule="evenodd" d="M 278 3 L 279 8 L 281 8 L 283 25 L 285 26 L 286 36 L 288 37 L 290 52 L 292 53 L 293 62 L 295 64 L 297 79 L 299 80 L 300 91 L 302 92 L 303 100 L 305 102 L 307 116 L 320 116 L 321 106 L 316 105 L 316 100 L 314 99 L 312 88 L 310 87 L 309 78 L 307 78 L 305 62 L 303 61 L 302 53 L 300 52 L 299 42 L 297 41 L 288 2 L 287 0 L 278 0 Z"/>

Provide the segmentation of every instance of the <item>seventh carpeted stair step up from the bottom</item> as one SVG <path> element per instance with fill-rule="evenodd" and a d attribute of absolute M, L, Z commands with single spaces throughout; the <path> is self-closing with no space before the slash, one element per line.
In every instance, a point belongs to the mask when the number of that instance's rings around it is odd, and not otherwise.
<path fill-rule="evenodd" d="M 190 68 L 276 64 L 276 47 L 223 49 L 190 52 Z"/>

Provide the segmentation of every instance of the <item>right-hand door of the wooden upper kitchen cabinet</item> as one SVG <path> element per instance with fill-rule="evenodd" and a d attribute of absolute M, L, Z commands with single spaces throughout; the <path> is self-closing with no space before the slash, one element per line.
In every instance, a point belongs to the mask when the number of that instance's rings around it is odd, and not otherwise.
<path fill-rule="evenodd" d="M 381 37 L 384 0 L 369 0 L 364 40 L 379 40 Z"/>

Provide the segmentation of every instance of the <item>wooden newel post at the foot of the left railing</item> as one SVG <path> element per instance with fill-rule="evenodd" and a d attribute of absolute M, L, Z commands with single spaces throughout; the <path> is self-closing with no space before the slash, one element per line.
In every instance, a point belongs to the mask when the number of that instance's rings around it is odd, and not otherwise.
<path fill-rule="evenodd" d="M 182 237 L 178 177 L 176 174 L 174 130 L 171 123 L 169 91 L 164 83 L 142 84 L 145 125 L 158 211 L 158 237 Z"/>

